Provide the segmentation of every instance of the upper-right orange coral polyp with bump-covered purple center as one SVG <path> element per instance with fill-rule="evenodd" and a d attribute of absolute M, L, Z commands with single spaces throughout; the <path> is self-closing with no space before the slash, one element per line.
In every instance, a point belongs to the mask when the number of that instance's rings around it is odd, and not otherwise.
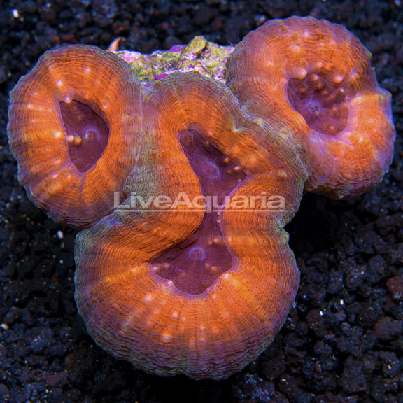
<path fill-rule="evenodd" d="M 395 139 L 390 94 L 341 25 L 313 17 L 264 24 L 236 46 L 227 85 L 244 110 L 301 143 L 306 190 L 353 197 L 382 180 Z"/>

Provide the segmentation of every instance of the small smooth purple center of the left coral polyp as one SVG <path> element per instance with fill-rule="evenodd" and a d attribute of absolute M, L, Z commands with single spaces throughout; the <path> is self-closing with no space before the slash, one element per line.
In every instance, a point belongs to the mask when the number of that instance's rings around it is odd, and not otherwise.
<path fill-rule="evenodd" d="M 90 106 L 73 99 L 60 102 L 70 160 L 77 171 L 88 171 L 99 160 L 108 144 L 106 121 Z"/>

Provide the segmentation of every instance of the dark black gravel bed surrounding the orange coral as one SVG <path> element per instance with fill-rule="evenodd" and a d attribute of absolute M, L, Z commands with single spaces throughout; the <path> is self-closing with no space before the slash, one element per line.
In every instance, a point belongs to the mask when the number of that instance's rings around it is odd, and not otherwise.
<path fill-rule="evenodd" d="M 0 1 L 0 402 L 403 402 L 403 10 L 399 0 Z M 13 10 L 14 9 L 14 10 Z M 393 94 L 395 160 L 353 201 L 306 195 L 288 226 L 302 272 L 274 344 L 225 381 L 160 378 L 101 351 L 73 299 L 75 232 L 17 182 L 8 92 L 54 46 L 150 52 L 195 35 L 238 43 L 265 20 L 313 15 L 346 25 Z"/>

